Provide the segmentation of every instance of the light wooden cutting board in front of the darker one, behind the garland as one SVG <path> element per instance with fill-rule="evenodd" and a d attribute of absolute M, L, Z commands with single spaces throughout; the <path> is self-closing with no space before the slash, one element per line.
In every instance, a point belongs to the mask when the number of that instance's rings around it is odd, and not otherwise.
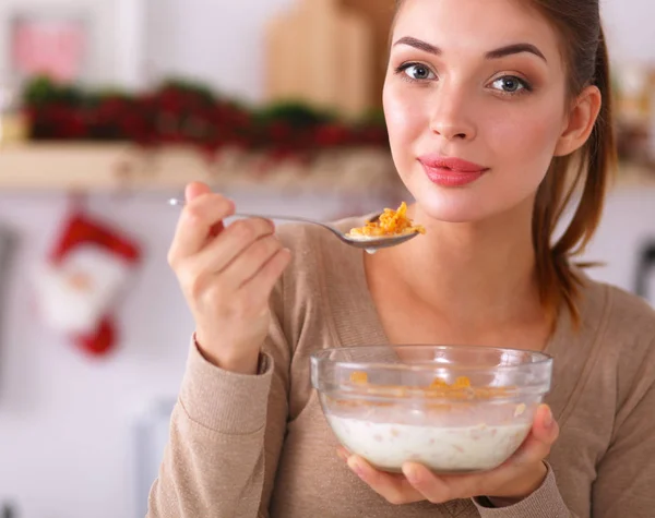
<path fill-rule="evenodd" d="M 300 100 L 346 117 L 379 106 L 373 24 L 343 2 L 299 0 L 271 21 L 265 46 L 267 101 Z"/>

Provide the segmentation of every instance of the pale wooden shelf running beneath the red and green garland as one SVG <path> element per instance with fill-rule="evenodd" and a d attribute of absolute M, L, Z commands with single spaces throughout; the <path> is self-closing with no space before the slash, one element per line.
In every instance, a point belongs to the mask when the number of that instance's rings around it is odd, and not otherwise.
<path fill-rule="evenodd" d="M 370 192 L 398 186 L 391 156 L 379 148 L 324 153 L 311 165 L 226 152 L 211 162 L 190 147 L 146 150 L 130 144 L 0 145 L 0 189 L 170 191 L 190 181 L 223 189 Z"/>

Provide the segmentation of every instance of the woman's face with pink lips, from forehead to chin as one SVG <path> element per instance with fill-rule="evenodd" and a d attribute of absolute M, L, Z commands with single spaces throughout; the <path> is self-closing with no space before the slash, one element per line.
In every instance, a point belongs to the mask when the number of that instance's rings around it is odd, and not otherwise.
<path fill-rule="evenodd" d="M 558 34 L 516 0 L 406 0 L 384 112 L 400 174 L 428 216 L 478 221 L 526 203 L 567 128 Z"/>

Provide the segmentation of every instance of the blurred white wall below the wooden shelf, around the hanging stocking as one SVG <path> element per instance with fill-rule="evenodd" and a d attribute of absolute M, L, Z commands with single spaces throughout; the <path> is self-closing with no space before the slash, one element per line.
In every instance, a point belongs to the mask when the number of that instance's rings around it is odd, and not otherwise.
<path fill-rule="evenodd" d="M 379 202 L 331 196 L 253 197 L 240 208 L 333 217 Z M 88 207 L 143 242 L 145 261 L 118 312 L 122 340 L 90 360 L 41 325 L 31 273 L 45 257 L 67 208 L 63 196 L 0 194 L 0 224 L 20 237 L 7 279 L 0 328 L 0 504 L 20 518 L 138 516 L 134 432 L 141 412 L 175 398 L 192 321 L 166 264 L 177 209 L 165 195 L 95 196 Z M 2 282 L 4 286 L 4 282 Z"/>

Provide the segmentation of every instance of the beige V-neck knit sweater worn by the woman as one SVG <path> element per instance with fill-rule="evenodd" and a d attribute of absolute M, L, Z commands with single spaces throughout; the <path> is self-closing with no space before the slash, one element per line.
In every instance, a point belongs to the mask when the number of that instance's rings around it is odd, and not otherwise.
<path fill-rule="evenodd" d="M 221 371 L 191 347 L 150 518 L 655 517 L 655 313 L 644 302 L 587 279 L 582 329 L 561 313 L 546 349 L 561 434 L 533 495 L 498 509 L 394 506 L 335 455 L 309 377 L 312 351 L 388 342 L 361 252 L 313 227 L 279 233 L 294 260 L 272 297 L 261 373 Z"/>

